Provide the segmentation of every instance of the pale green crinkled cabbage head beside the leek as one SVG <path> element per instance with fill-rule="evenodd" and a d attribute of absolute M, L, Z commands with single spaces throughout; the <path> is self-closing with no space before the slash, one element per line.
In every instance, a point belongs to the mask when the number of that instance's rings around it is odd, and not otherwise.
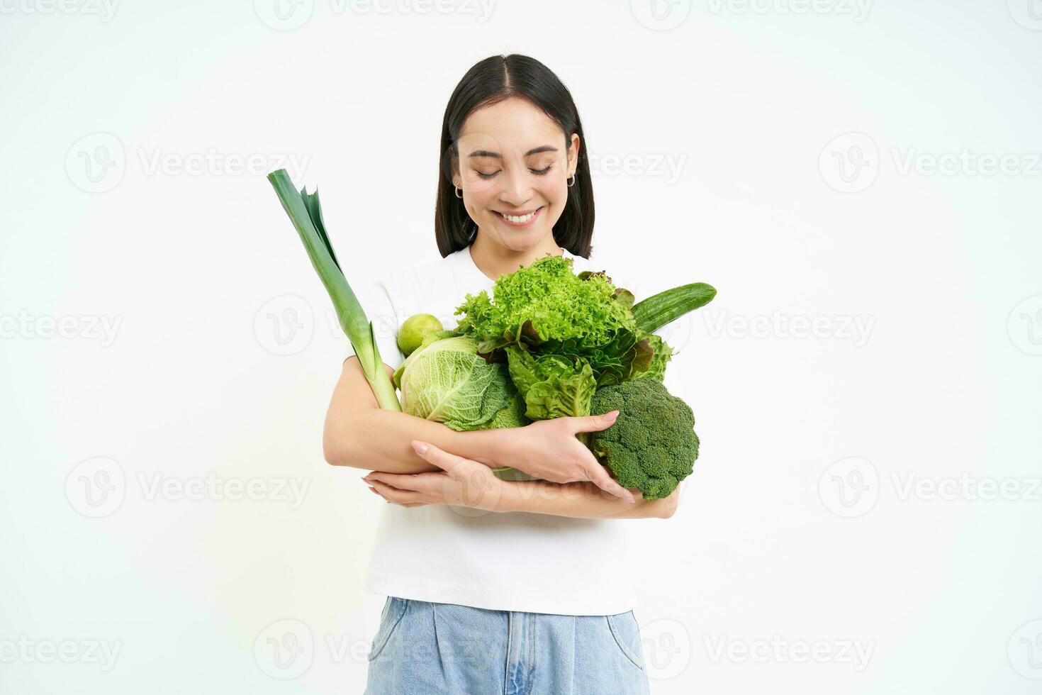
<path fill-rule="evenodd" d="M 402 411 L 458 431 L 521 427 L 524 401 L 504 363 L 477 354 L 473 338 L 425 340 L 395 372 Z"/>

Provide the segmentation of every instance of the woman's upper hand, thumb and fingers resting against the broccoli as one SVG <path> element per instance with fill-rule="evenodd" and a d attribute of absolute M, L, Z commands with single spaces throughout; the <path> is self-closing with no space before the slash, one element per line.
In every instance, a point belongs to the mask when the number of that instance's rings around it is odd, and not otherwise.
<path fill-rule="evenodd" d="M 550 482 L 584 482 L 635 502 L 632 494 L 620 486 L 593 452 L 576 439 L 578 432 L 596 432 L 615 424 L 618 411 L 585 418 L 538 420 L 524 427 L 491 430 L 497 435 L 494 458 L 532 477 Z"/>

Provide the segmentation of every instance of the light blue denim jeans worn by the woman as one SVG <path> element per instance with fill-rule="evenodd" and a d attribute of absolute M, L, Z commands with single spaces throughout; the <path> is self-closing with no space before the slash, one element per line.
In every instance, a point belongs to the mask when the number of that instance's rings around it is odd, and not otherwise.
<path fill-rule="evenodd" d="M 640 626 L 388 596 L 365 695 L 647 695 Z"/>

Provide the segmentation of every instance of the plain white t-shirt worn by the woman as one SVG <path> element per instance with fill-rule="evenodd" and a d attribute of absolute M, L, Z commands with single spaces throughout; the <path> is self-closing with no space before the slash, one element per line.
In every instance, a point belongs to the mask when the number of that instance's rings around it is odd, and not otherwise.
<path fill-rule="evenodd" d="M 601 270 L 565 249 L 572 270 Z M 432 314 L 446 329 L 466 294 L 494 281 L 470 248 L 374 282 L 359 297 L 380 356 L 403 361 L 398 326 Z M 622 519 L 575 519 L 530 512 L 485 512 L 447 504 L 379 504 L 365 590 L 384 596 L 497 611 L 614 615 L 635 605 Z M 635 523 L 648 523 L 645 520 Z"/>

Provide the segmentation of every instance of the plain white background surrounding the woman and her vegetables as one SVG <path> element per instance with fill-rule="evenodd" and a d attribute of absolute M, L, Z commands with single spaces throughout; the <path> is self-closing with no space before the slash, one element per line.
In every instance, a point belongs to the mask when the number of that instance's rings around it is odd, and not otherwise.
<path fill-rule="evenodd" d="M 510 52 L 576 100 L 603 267 L 719 290 L 664 329 L 696 472 L 619 522 L 652 692 L 1038 692 L 1040 3 L 274 1 L 0 0 L 0 692 L 362 691 L 382 502 L 322 458 L 346 340 L 264 174 L 356 288 L 435 259 L 443 109 Z"/>

